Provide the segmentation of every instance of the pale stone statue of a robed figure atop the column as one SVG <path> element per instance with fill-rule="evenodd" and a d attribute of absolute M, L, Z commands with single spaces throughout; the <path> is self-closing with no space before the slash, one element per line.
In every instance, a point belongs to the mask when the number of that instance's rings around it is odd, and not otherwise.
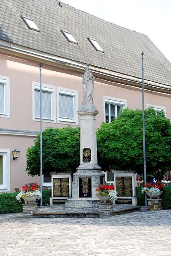
<path fill-rule="evenodd" d="M 86 64 L 83 74 L 84 101 L 83 104 L 93 104 L 94 76 L 90 71 L 89 64 Z"/>

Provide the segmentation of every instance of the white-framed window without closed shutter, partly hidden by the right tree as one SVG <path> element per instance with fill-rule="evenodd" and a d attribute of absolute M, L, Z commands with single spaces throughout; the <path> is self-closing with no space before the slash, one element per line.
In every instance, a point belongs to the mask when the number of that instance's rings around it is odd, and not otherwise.
<path fill-rule="evenodd" d="M 127 100 L 104 96 L 104 122 L 110 123 L 116 119 L 119 112 L 127 107 Z"/>

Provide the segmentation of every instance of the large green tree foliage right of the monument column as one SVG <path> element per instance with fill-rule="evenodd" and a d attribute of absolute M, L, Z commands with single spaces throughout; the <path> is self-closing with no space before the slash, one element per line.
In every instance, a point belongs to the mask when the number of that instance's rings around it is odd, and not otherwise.
<path fill-rule="evenodd" d="M 147 178 L 162 179 L 171 168 L 171 122 L 161 111 L 145 110 Z M 143 174 L 142 110 L 121 111 L 97 131 L 98 164 L 104 169 Z"/>

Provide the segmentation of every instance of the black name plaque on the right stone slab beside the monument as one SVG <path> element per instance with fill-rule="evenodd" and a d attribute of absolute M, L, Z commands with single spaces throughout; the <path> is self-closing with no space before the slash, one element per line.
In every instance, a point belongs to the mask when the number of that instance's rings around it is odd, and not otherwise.
<path fill-rule="evenodd" d="M 133 196 L 132 177 L 115 177 L 118 196 Z"/>

